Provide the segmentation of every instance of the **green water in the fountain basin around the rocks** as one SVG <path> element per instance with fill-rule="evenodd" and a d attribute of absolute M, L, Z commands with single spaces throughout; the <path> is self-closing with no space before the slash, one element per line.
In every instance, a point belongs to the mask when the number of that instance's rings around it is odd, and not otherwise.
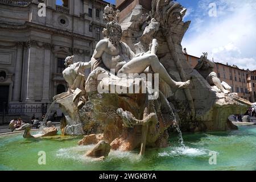
<path fill-rule="evenodd" d="M 256 170 L 256 126 L 222 133 L 176 135 L 171 147 L 135 152 L 110 152 L 102 162 L 84 156 L 93 146 L 77 146 L 79 138 L 23 139 L 0 137 L 0 170 Z M 46 165 L 38 164 L 38 152 L 46 152 Z M 217 164 L 209 164 L 209 152 L 217 152 Z"/>

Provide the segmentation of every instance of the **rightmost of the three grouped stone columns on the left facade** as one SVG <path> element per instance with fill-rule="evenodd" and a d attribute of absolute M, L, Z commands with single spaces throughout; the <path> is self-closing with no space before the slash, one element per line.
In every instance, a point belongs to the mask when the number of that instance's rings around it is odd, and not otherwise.
<path fill-rule="evenodd" d="M 51 50 L 44 49 L 43 102 L 49 102 Z"/>

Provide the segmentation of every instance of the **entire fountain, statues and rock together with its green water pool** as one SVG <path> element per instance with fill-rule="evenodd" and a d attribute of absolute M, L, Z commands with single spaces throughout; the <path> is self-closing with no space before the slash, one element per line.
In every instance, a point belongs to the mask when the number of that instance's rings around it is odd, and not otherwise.
<path fill-rule="evenodd" d="M 74 56 L 65 60 L 67 68 L 63 75 L 69 89 L 53 98 L 53 104 L 59 104 L 65 115 L 61 122 L 63 136 L 43 138 L 40 146 L 25 142 L 24 147 L 47 146 L 44 150 L 63 164 L 57 167 L 50 162 L 47 169 L 60 170 L 195 169 L 182 161 L 173 166 L 179 160 L 176 156 L 181 156 L 180 160 L 192 156 L 193 166 L 201 169 L 204 165 L 200 161 L 208 161 L 210 151 L 226 156 L 222 158 L 222 168 L 208 168 L 225 169 L 230 166 L 226 152 L 235 151 L 234 146 L 229 146 L 230 141 L 239 142 L 243 146 L 241 151 L 247 148 L 246 153 L 254 154 L 255 147 L 250 148 L 249 144 L 256 140 L 256 128 L 236 130 L 228 120 L 229 115 L 245 111 L 250 102 L 229 93 L 229 86 L 220 83 L 212 67 L 207 67 L 213 63 L 206 53 L 196 69 L 188 65 L 183 55 L 181 40 L 190 24 L 183 22 L 186 10 L 174 1 L 153 0 L 150 12 L 146 14 L 141 6 L 136 6 L 119 23 L 118 12 L 112 6 L 105 8 L 104 18 L 108 22 L 105 38 L 97 44 L 88 63 L 74 63 Z M 86 78 L 87 68 L 92 72 Z M 178 142 L 169 137 L 172 127 L 179 135 Z M 183 134 L 183 131 L 200 134 Z M 253 134 L 241 137 L 248 133 Z M 19 135 L 8 139 L 13 141 L 10 143 L 20 142 Z M 5 138 L 0 137 L 0 141 L 3 159 L 12 147 Z M 183 150 L 175 148 L 175 143 Z M 140 158 L 138 153 L 146 157 Z M 250 155 L 244 156 L 244 160 L 233 155 L 237 162 L 232 165 L 234 169 L 245 167 L 240 164 L 246 162 L 246 169 L 255 169 L 255 163 L 247 160 Z M 103 162 L 97 166 L 92 158 Z M 134 161 L 141 166 L 134 166 Z M 7 160 L 2 163 L 0 169 L 20 169 L 16 164 L 8 166 Z M 115 167 L 119 165 L 121 168 Z"/>

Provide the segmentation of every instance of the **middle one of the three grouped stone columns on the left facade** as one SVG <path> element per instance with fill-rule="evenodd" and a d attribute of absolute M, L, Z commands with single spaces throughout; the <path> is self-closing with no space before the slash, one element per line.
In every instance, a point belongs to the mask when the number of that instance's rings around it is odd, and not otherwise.
<path fill-rule="evenodd" d="M 35 42 L 28 43 L 28 64 L 27 64 L 27 87 L 25 102 L 34 102 L 34 81 L 36 77 L 35 60 L 36 60 L 36 47 Z"/>

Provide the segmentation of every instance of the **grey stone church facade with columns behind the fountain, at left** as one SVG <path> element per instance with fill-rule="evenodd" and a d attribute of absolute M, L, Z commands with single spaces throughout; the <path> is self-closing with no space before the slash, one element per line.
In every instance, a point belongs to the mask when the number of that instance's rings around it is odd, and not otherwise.
<path fill-rule="evenodd" d="M 64 0 L 63 5 L 0 0 L 0 113 L 9 106 L 47 105 L 68 89 L 64 59 L 90 60 L 103 38 L 106 5 L 101 0 Z"/>

